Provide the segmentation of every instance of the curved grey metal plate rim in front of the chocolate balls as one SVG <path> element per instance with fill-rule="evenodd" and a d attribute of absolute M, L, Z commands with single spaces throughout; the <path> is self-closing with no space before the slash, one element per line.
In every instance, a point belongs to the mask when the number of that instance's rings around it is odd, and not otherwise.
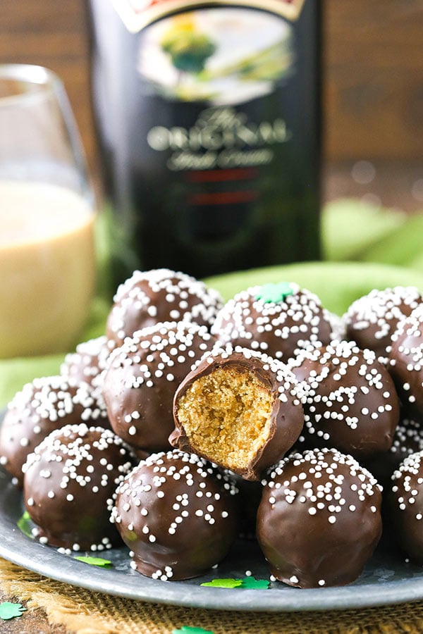
<path fill-rule="evenodd" d="M 5 412 L 6 409 L 0 411 L 0 426 Z M 4 502 L 6 495 L 12 495 L 17 500 L 22 496 L 22 491 L 12 484 L 11 475 L 1 467 L 0 502 Z M 54 547 L 30 540 L 18 528 L 16 520 L 10 514 L 5 515 L 2 508 L 0 533 L 0 557 L 13 564 L 76 588 L 147 603 L 224 611 L 297 612 L 386 607 L 423 599 L 423 568 L 421 575 L 417 577 L 385 580 L 383 592 L 379 583 L 311 589 L 290 588 L 283 584 L 269 590 L 203 588 L 200 582 L 193 585 L 192 580 L 164 582 L 147 578 L 135 571 L 123 572 L 97 566 L 90 566 L 89 574 L 84 575 L 87 564 L 59 553 Z M 247 543 L 247 540 L 238 542 Z M 123 545 L 120 549 L 126 547 Z M 41 552 L 48 556 L 37 558 L 36 555 Z M 102 556 L 107 557 L 108 552 L 110 551 L 102 552 Z M 135 583 L 130 583 L 130 589 L 125 589 L 124 579 L 128 584 L 128 577 L 133 578 Z M 278 587 L 282 591 L 278 591 Z"/>

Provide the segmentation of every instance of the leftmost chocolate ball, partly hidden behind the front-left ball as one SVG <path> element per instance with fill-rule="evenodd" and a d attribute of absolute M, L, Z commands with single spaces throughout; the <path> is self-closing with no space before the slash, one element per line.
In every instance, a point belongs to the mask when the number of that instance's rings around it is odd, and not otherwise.
<path fill-rule="evenodd" d="M 22 486 L 27 455 L 51 431 L 85 422 L 109 426 L 103 399 L 87 383 L 63 376 L 36 378 L 8 404 L 0 430 L 0 462 Z"/>

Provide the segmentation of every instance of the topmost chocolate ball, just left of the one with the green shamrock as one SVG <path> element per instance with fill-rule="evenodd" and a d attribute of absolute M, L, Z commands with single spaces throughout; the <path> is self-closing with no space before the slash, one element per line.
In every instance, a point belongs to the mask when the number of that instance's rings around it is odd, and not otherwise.
<path fill-rule="evenodd" d="M 216 290 L 185 273 L 135 271 L 116 291 L 106 335 L 121 345 L 136 330 L 162 321 L 192 321 L 209 328 L 222 304 Z"/>

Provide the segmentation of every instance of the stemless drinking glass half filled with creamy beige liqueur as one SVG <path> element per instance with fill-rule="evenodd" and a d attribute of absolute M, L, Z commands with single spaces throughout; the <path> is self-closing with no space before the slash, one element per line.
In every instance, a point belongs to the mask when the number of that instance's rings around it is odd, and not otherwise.
<path fill-rule="evenodd" d="M 94 292 L 95 218 L 63 82 L 0 65 L 0 358 L 75 345 Z"/>

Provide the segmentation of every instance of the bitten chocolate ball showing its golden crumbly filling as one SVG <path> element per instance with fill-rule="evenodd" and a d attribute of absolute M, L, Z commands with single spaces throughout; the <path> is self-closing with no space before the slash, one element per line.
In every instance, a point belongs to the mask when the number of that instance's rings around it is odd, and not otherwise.
<path fill-rule="evenodd" d="M 259 480 L 302 430 L 296 387 L 281 361 L 246 348 L 216 347 L 178 387 L 169 440 L 246 480 Z"/>

